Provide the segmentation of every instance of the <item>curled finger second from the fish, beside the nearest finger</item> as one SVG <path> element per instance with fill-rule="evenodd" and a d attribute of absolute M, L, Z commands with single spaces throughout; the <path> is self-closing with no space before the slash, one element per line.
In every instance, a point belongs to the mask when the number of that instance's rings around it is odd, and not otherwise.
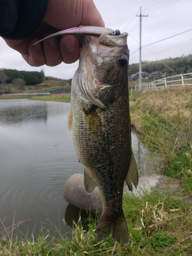
<path fill-rule="evenodd" d="M 45 35 L 48 36 L 49 34 Z M 62 62 L 62 56 L 59 48 L 58 37 L 48 38 L 43 42 L 44 54 L 46 57 L 46 65 L 53 67 Z"/>

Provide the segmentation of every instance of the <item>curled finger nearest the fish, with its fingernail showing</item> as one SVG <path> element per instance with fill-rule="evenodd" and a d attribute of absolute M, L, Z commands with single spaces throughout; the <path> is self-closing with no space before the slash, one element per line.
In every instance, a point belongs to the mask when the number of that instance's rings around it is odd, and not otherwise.
<path fill-rule="evenodd" d="M 62 61 L 65 63 L 73 63 L 78 60 L 80 54 L 80 46 L 74 35 L 65 35 L 60 39 L 60 52 Z"/>

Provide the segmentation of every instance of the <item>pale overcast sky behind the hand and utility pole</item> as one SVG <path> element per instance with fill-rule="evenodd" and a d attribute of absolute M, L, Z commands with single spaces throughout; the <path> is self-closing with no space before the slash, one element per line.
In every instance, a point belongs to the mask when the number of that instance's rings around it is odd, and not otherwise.
<path fill-rule="evenodd" d="M 128 32 L 127 44 L 130 49 L 130 64 L 139 62 L 139 17 L 142 15 L 143 46 L 164 38 L 146 49 L 142 48 L 142 60 L 152 61 L 192 54 L 192 1 L 191 0 L 95 0 L 95 5 L 105 22 L 105 27 Z M 61 63 L 56 67 L 30 67 L 19 53 L 9 48 L 0 37 L 0 68 L 26 71 L 44 70 L 46 76 L 62 79 L 72 78 L 78 67 Z"/>

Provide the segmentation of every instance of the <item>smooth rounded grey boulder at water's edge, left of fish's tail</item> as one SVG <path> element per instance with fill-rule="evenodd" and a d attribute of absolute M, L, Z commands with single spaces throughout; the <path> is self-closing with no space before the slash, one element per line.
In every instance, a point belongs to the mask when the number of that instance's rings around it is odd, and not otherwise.
<path fill-rule="evenodd" d="M 84 189 L 83 174 L 74 174 L 66 182 L 63 189 L 66 201 L 80 209 L 91 209 L 92 212 L 102 212 L 102 200 L 98 187 L 91 195 Z"/>

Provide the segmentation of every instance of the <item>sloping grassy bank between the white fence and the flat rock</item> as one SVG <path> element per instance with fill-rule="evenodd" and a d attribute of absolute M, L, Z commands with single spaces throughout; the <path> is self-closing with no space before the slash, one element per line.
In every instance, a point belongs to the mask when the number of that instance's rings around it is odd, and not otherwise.
<path fill-rule="evenodd" d="M 133 92 L 130 108 L 141 141 L 162 159 L 159 172 L 192 191 L 192 87 Z"/>

